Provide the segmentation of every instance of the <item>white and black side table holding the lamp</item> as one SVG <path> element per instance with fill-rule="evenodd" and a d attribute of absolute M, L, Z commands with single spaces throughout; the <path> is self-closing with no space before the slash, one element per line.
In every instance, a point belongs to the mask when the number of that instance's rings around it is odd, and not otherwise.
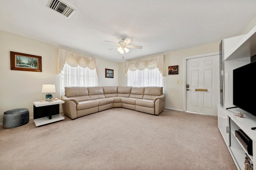
<path fill-rule="evenodd" d="M 37 126 L 46 125 L 65 119 L 60 115 L 60 104 L 65 103 L 62 100 L 34 101 L 34 123 Z"/>

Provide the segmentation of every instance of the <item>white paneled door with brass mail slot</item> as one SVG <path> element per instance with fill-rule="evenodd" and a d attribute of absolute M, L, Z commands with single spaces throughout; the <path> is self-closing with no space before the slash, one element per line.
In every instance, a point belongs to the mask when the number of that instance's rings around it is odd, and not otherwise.
<path fill-rule="evenodd" d="M 187 112 L 217 116 L 219 89 L 219 55 L 186 60 Z"/>

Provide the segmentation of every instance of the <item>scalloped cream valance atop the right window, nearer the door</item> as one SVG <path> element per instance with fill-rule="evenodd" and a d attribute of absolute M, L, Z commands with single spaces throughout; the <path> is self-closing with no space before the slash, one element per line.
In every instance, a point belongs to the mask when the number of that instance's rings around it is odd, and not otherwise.
<path fill-rule="evenodd" d="M 145 59 L 138 59 L 134 61 L 127 61 L 125 63 L 125 75 L 127 75 L 128 70 L 135 71 L 137 69 L 144 70 L 155 68 L 158 68 L 160 73 L 164 76 L 164 55 Z"/>

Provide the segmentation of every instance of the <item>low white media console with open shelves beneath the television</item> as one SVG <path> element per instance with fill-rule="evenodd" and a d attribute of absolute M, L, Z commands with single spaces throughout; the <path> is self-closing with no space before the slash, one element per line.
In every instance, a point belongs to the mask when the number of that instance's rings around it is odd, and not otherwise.
<path fill-rule="evenodd" d="M 246 113 L 239 108 L 226 109 L 222 105 L 218 105 L 218 128 L 224 138 L 224 141 L 230 151 L 230 154 L 238 169 L 244 170 L 245 154 L 251 159 L 251 163 L 255 164 L 256 160 L 256 116 Z M 236 116 L 237 113 L 242 113 L 244 117 Z M 248 151 L 235 135 L 235 130 L 242 129 L 252 140 L 252 153 Z M 255 170 L 255 167 L 254 167 Z"/>

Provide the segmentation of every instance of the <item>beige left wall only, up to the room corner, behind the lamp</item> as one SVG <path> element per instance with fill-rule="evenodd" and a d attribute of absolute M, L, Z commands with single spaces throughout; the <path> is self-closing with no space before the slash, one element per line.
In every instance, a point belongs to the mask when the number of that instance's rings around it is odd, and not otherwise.
<path fill-rule="evenodd" d="M 4 112 L 28 108 L 33 117 L 33 101 L 45 99 L 42 84 L 55 84 L 53 97 L 60 99 L 60 75 L 56 73 L 58 46 L 0 30 L 0 124 Z M 10 69 L 10 51 L 42 56 L 42 72 Z M 118 63 L 97 58 L 98 85 L 118 85 Z M 107 65 L 107 67 L 106 67 Z M 114 79 L 105 78 L 105 68 L 114 69 Z"/>

